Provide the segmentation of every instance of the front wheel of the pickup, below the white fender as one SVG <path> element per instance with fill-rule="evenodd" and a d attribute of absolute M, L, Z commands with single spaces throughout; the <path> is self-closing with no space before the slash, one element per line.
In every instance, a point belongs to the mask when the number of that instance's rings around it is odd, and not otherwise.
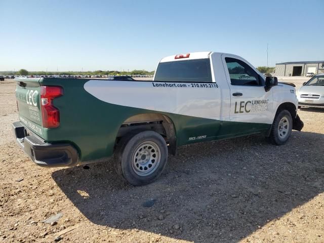
<path fill-rule="evenodd" d="M 281 131 L 281 133 L 280 133 L 280 131 L 279 131 L 280 121 L 282 119 L 285 120 L 285 118 L 288 121 L 287 132 Z M 280 125 L 280 126 L 282 128 L 282 125 Z M 276 116 L 274 117 L 273 124 L 271 127 L 270 136 L 268 137 L 268 140 L 271 143 L 276 144 L 276 145 L 285 144 L 288 141 L 288 139 L 292 133 L 292 128 L 293 128 L 293 118 L 292 118 L 291 113 L 288 110 L 281 110 L 281 111 L 277 112 Z M 286 131 L 286 129 L 285 129 L 285 131 Z"/>

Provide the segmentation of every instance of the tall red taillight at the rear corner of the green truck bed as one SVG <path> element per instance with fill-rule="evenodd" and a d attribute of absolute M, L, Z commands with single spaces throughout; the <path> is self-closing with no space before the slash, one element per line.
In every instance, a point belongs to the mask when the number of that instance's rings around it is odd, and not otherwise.
<path fill-rule="evenodd" d="M 53 100 L 62 95 L 62 87 L 41 86 L 41 107 L 44 128 L 57 128 L 60 126 L 60 111 L 53 105 Z"/>

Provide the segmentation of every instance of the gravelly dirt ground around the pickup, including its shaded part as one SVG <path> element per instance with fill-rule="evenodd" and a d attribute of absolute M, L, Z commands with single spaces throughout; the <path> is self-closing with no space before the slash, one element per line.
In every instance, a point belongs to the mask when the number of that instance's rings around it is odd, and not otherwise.
<path fill-rule="evenodd" d="M 111 161 L 32 164 L 13 141 L 14 92 L 0 82 L 0 242 L 324 242 L 324 110 L 300 110 L 303 132 L 283 146 L 257 135 L 181 147 L 158 181 L 134 187 Z"/>

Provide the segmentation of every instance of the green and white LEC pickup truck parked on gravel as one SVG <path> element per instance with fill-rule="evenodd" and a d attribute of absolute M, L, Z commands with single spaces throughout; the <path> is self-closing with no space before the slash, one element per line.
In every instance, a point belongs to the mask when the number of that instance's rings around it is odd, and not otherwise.
<path fill-rule="evenodd" d="M 281 145 L 303 128 L 294 87 L 225 53 L 163 58 L 153 81 L 15 80 L 13 130 L 34 163 L 72 167 L 114 156 L 133 185 L 154 181 L 178 146 L 256 133 Z"/>

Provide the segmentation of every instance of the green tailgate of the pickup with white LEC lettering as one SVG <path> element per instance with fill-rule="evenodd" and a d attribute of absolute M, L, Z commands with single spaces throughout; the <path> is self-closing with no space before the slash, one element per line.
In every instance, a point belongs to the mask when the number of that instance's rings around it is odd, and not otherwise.
<path fill-rule="evenodd" d="M 15 81 L 19 120 L 26 128 L 43 138 L 39 78 L 16 78 Z"/>

